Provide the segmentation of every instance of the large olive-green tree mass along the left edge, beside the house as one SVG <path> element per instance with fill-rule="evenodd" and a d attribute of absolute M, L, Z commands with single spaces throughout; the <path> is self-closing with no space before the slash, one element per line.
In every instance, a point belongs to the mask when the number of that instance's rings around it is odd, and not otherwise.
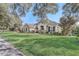
<path fill-rule="evenodd" d="M 9 4 L 0 4 L 0 29 L 7 30 L 15 24 L 17 26 L 22 24 L 20 17 L 10 13 Z"/>

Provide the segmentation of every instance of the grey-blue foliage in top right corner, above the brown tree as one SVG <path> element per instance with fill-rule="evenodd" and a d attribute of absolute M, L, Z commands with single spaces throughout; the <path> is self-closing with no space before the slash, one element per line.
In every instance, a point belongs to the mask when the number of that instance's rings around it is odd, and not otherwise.
<path fill-rule="evenodd" d="M 79 3 L 66 3 L 63 10 L 65 15 L 79 16 Z"/>

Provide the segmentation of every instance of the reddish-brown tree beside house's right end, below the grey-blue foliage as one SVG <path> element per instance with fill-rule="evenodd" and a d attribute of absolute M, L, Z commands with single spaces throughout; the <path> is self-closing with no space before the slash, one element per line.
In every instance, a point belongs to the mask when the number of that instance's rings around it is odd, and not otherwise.
<path fill-rule="evenodd" d="M 74 25 L 77 22 L 76 17 L 74 16 L 62 16 L 60 18 L 60 26 L 62 28 L 63 35 L 70 35 L 74 29 Z"/>

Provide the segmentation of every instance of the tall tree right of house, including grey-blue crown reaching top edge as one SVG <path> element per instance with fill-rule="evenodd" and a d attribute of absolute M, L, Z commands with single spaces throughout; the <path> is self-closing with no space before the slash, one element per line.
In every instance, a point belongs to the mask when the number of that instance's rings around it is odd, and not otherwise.
<path fill-rule="evenodd" d="M 79 16 L 79 4 L 77 3 L 66 3 L 63 6 L 63 15 L 60 18 L 60 26 L 62 28 L 62 34 L 68 35 L 74 29 Z"/>

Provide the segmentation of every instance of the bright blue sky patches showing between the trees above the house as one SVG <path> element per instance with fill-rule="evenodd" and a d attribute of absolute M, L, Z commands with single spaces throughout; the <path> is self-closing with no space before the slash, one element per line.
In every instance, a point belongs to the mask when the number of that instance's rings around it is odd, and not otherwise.
<path fill-rule="evenodd" d="M 52 21 L 59 22 L 59 19 L 62 16 L 62 9 L 61 8 L 63 5 L 64 5 L 63 3 L 58 3 L 59 11 L 56 14 L 48 14 L 48 18 Z M 33 16 L 31 11 L 29 11 L 25 17 L 22 17 L 22 22 L 24 24 L 25 23 L 34 24 L 37 22 L 36 20 L 37 20 L 37 17 Z"/>

